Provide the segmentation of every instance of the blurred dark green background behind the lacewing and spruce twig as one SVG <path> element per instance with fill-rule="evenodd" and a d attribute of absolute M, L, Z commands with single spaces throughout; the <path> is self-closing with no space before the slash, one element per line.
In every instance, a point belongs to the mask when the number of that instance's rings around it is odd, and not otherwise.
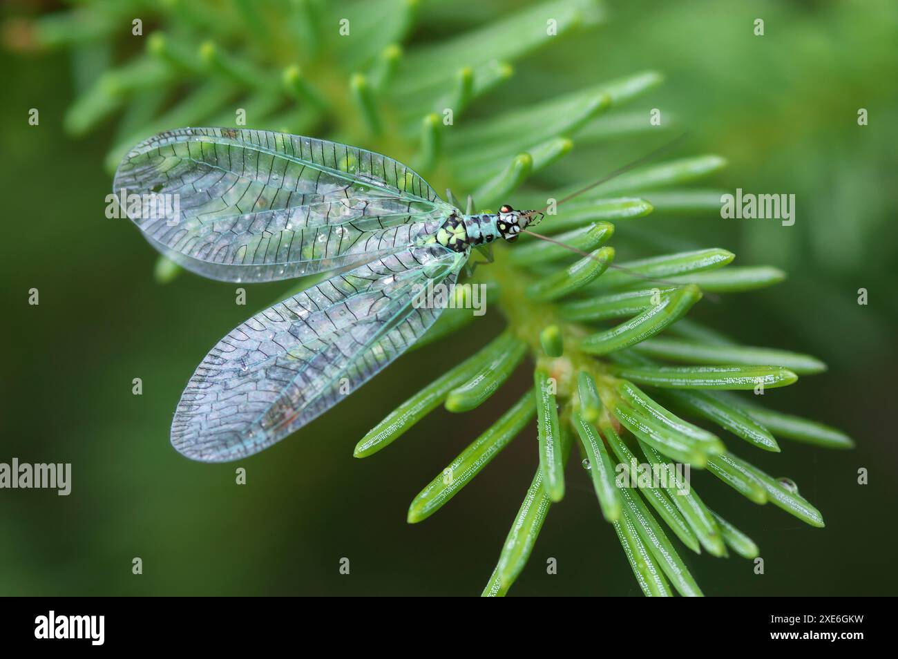
<path fill-rule="evenodd" d="M 411 43 L 518 4 L 425 2 Z M 11 3 L 4 21 L 54 9 Z M 661 216 L 615 239 L 626 254 L 646 242 L 658 251 L 719 246 L 741 265 L 786 269 L 786 283 L 704 303 L 697 316 L 746 343 L 823 358 L 828 373 L 770 391 L 770 405 L 840 427 L 858 443 L 827 452 L 783 441 L 783 453 L 753 455 L 764 470 L 799 483 L 823 513 L 822 530 L 750 505 L 701 475 L 703 496 L 765 559 L 765 574 L 756 576 L 740 558 L 685 556 L 707 594 L 890 594 L 898 581 L 887 516 L 898 494 L 896 10 L 890 2 L 612 3 L 599 30 L 527 57 L 479 101 L 525 104 L 535 88 L 542 97 L 656 69 L 665 84 L 635 107 L 669 113 L 690 131 L 689 152 L 726 156 L 717 187 L 797 196 L 797 222 L 788 228 Z M 753 35 L 755 18 L 765 21 L 763 37 Z M 75 94 L 70 57 L 11 50 L 0 53 L 0 331 L 9 348 L 0 461 L 72 462 L 74 473 L 67 497 L 0 491 L 0 593 L 480 593 L 533 477 L 533 437 L 525 432 L 440 514 L 407 524 L 411 498 L 495 416 L 490 405 L 459 416 L 439 409 L 382 453 L 352 457 L 392 405 L 445 369 L 437 343 L 249 460 L 180 457 L 168 434 L 190 373 L 228 329 L 288 286 L 251 286 L 241 307 L 232 285 L 186 274 L 156 284 L 154 250 L 128 222 L 103 215 L 111 127 L 76 140 L 62 129 Z M 30 108 L 40 109 L 38 127 L 27 123 Z M 858 108 L 869 111 L 867 127 L 858 127 Z M 635 137 L 614 148 L 633 157 L 651 144 Z M 575 150 L 545 180 L 585 171 L 599 176 L 607 166 Z M 39 306 L 27 303 L 31 287 L 40 290 Z M 867 306 L 857 303 L 861 287 Z M 485 323 L 466 333 L 470 347 L 492 336 L 495 326 Z M 131 393 L 135 377 L 142 396 Z M 500 400 L 515 400 L 527 380 L 510 382 Z M 245 486 L 234 483 L 237 466 L 248 472 Z M 870 471 L 867 486 L 857 484 L 861 467 Z M 512 594 L 639 593 L 578 470 L 572 460 L 568 496 L 553 506 Z M 143 559 L 142 576 L 131 574 L 134 557 Z M 339 575 L 343 557 L 349 576 Z M 546 574 L 550 557 L 559 562 L 556 576 Z"/>

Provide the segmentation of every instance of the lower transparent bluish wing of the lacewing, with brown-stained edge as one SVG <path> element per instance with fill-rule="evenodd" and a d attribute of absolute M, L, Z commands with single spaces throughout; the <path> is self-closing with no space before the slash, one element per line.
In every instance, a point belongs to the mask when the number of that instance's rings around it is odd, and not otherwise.
<path fill-rule="evenodd" d="M 466 258 L 438 245 L 411 248 L 256 314 L 190 378 L 172 444 L 194 460 L 219 462 L 295 432 L 418 340 L 442 309 L 413 304 L 414 294 L 428 282 L 452 285 Z"/>

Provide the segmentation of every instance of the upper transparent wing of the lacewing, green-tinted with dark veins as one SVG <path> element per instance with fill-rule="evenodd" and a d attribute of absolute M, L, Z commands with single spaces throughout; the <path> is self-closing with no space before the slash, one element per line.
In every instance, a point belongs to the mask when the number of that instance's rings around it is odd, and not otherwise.
<path fill-rule="evenodd" d="M 113 191 L 157 250 L 205 277 L 241 282 L 383 257 L 452 209 L 392 158 L 236 128 L 151 137 L 119 164 Z"/>

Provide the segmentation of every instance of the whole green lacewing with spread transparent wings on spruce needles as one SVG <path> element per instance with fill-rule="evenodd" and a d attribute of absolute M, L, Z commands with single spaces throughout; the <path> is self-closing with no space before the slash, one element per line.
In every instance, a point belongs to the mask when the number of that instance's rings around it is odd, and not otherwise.
<path fill-rule="evenodd" d="M 387 156 L 236 128 L 151 137 L 124 157 L 113 189 L 145 199 L 128 217 L 198 275 L 253 283 L 335 273 L 242 322 L 198 365 L 171 438 L 207 462 L 258 453 L 357 390 L 442 312 L 413 304 L 416 290 L 452 286 L 472 248 L 513 242 L 542 218 L 508 205 L 465 214 Z M 178 200 L 175 216 L 148 212 L 166 196 Z"/>

